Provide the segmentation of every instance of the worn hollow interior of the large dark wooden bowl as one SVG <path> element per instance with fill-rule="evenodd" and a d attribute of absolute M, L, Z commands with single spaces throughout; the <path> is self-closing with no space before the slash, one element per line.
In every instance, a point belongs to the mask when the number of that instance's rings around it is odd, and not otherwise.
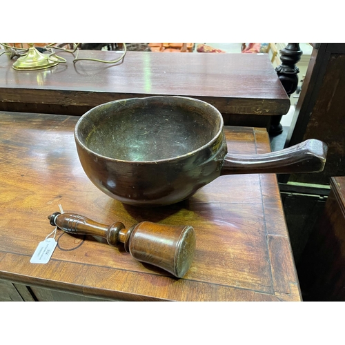
<path fill-rule="evenodd" d="M 217 109 L 196 99 L 147 97 L 102 104 L 77 124 L 92 152 L 124 161 L 157 161 L 208 144 L 222 128 Z"/>

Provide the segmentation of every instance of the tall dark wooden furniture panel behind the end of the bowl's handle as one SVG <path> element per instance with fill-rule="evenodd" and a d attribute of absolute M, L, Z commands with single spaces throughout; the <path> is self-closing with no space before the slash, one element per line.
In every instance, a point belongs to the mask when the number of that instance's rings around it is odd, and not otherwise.
<path fill-rule="evenodd" d="M 279 177 L 280 181 L 329 184 L 345 175 L 345 43 L 313 43 L 314 48 L 303 81 L 286 147 L 315 138 L 328 145 L 324 171 Z"/>

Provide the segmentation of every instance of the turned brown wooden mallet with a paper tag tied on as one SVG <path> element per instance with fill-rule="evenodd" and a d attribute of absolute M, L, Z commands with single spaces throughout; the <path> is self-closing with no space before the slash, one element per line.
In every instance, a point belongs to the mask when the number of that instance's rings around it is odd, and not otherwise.
<path fill-rule="evenodd" d="M 52 226 L 66 233 L 103 237 L 110 246 L 121 242 L 135 259 L 163 268 L 178 278 L 184 277 L 193 262 L 195 231 L 192 226 L 141 221 L 126 229 L 120 221 L 106 226 L 75 213 L 56 212 L 48 218 Z"/>

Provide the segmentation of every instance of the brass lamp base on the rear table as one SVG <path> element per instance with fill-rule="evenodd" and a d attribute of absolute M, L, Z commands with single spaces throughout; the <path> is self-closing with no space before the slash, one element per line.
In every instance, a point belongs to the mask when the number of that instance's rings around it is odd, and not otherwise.
<path fill-rule="evenodd" d="M 58 61 L 49 60 L 48 57 L 41 54 L 41 52 L 34 48 L 34 43 L 29 43 L 29 46 L 28 54 L 24 57 L 19 57 L 13 63 L 12 67 L 14 70 L 41 70 L 59 64 Z"/>

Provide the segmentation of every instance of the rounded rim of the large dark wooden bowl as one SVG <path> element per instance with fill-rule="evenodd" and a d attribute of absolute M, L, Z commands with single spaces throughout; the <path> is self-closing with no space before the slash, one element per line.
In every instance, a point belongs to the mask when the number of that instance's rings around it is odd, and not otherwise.
<path fill-rule="evenodd" d="M 97 108 L 102 108 L 103 106 L 106 106 L 107 104 L 110 104 L 110 103 L 119 103 L 119 102 L 126 102 L 128 100 L 130 101 L 133 101 L 135 99 L 139 99 L 139 100 L 147 100 L 147 99 L 158 99 L 158 98 L 164 98 L 164 99 L 172 99 L 172 98 L 175 98 L 175 99 L 188 99 L 188 100 L 191 100 L 191 101 L 197 101 L 197 102 L 201 102 L 201 103 L 204 103 L 206 106 L 209 106 L 210 108 L 213 108 L 213 110 L 215 110 L 215 113 L 218 115 L 219 117 L 219 130 L 217 131 L 217 134 L 214 135 L 214 137 L 208 141 L 206 144 L 204 144 L 203 146 L 200 146 L 199 148 L 193 150 L 193 151 L 190 151 L 190 152 L 187 152 L 185 153 L 184 155 L 179 155 L 179 156 L 175 156 L 175 157 L 170 157 L 170 158 L 164 158 L 164 159 L 155 159 L 155 160 L 152 160 L 152 161 L 128 161 L 126 159 L 117 159 L 117 158 L 112 158 L 112 157 L 107 157 L 107 156 L 104 156 L 104 155 L 100 155 L 99 153 L 93 151 L 93 150 L 90 150 L 90 148 L 88 148 L 86 145 L 84 145 L 81 140 L 79 139 L 78 137 L 78 129 L 79 129 L 79 126 L 81 125 L 81 122 L 86 118 L 88 117 L 88 115 L 90 114 L 90 112 L 94 111 L 95 109 Z M 204 148 L 207 148 L 208 146 L 212 146 L 212 144 L 217 141 L 217 139 L 219 138 L 219 135 L 221 135 L 221 132 L 224 131 L 224 120 L 223 120 L 223 117 L 221 116 L 221 113 L 219 112 L 219 110 L 217 108 L 215 108 L 215 106 L 213 106 L 212 104 L 210 103 L 207 103 L 206 101 L 201 101 L 201 99 L 195 99 L 193 97 L 185 97 L 185 96 L 159 96 L 159 95 L 156 95 L 156 96 L 148 96 L 148 97 L 131 97 L 131 98 L 126 98 L 126 99 L 115 99 L 114 101 L 109 101 L 109 102 L 106 102 L 106 103 L 101 103 L 99 104 L 98 106 L 95 106 L 93 108 L 91 108 L 90 110 L 88 110 L 85 114 L 83 114 L 79 120 L 77 121 L 77 124 L 75 125 L 75 130 L 74 130 L 74 135 L 75 135 L 75 141 L 77 142 L 77 144 L 83 148 L 83 150 L 86 150 L 89 154 L 92 154 L 92 155 L 95 155 L 96 157 L 99 157 L 101 159 L 106 159 L 108 161 L 118 161 L 118 162 L 124 162 L 124 163 L 128 163 L 128 164 L 158 164 L 158 163 L 165 163 L 165 162 L 169 162 L 169 161 L 176 161 L 176 160 L 179 160 L 179 159 L 184 159 L 186 157 L 190 157 L 190 156 L 193 156 L 195 155 L 197 152 L 200 152 L 202 150 L 204 150 Z"/>

